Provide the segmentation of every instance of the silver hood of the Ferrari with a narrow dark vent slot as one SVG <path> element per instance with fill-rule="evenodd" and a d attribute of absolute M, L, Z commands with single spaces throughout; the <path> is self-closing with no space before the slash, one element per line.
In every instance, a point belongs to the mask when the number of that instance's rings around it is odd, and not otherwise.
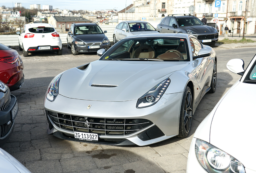
<path fill-rule="evenodd" d="M 74 99 L 129 101 L 140 98 L 172 72 L 189 62 L 91 62 L 85 70 L 71 68 L 62 74 L 59 94 Z M 92 87 L 91 85 L 99 85 Z M 111 87 L 109 87 L 111 86 Z"/>

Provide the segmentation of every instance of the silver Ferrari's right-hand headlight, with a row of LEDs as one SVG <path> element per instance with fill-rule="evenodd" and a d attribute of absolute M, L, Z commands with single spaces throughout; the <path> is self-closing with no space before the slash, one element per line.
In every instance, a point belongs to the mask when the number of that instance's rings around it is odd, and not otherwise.
<path fill-rule="evenodd" d="M 165 93 L 165 90 L 169 86 L 170 82 L 171 80 L 167 78 L 149 90 L 145 95 L 138 99 L 136 108 L 144 108 L 155 105 L 155 103 L 157 103 L 157 101 L 159 101 L 159 99 L 163 96 L 163 93 Z"/>

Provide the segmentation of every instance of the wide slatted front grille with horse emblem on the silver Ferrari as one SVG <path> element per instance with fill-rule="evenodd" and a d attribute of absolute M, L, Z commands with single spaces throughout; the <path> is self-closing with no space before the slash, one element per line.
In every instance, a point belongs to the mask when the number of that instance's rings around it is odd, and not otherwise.
<path fill-rule="evenodd" d="M 146 119 L 80 117 L 50 111 L 48 111 L 48 115 L 61 129 L 99 135 L 128 135 L 153 125 Z"/>

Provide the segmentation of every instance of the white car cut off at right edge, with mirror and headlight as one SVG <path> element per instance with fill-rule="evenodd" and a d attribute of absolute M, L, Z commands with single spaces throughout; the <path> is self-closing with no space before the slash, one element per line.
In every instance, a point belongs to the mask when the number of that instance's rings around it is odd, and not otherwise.
<path fill-rule="evenodd" d="M 187 173 L 255 173 L 256 56 L 232 59 L 227 68 L 242 75 L 200 123 L 190 145 Z"/>

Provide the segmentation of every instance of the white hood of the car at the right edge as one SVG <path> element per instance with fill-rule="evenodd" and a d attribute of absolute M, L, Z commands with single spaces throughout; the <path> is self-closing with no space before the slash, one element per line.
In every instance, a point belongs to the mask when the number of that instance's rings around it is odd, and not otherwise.
<path fill-rule="evenodd" d="M 256 84 L 239 82 L 218 106 L 211 124 L 210 143 L 255 169 Z"/>

